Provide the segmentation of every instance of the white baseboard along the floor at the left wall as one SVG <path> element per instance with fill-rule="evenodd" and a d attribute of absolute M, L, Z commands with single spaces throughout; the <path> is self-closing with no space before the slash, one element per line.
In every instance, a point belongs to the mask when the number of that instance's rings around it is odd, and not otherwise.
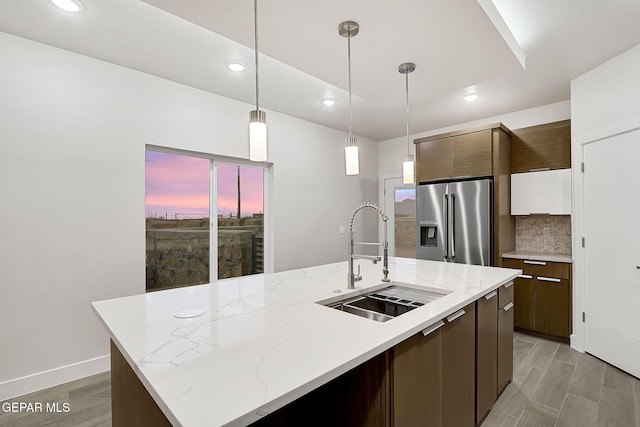
<path fill-rule="evenodd" d="M 110 369 L 109 355 L 0 383 L 0 402 Z"/>

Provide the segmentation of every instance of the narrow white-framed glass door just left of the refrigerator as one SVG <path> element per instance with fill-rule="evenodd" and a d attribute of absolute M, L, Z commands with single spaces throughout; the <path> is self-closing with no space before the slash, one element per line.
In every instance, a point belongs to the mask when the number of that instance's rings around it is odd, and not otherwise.
<path fill-rule="evenodd" d="M 415 258 L 415 185 L 403 184 L 402 178 L 384 180 L 384 205 L 389 217 L 387 241 L 389 256 Z"/>

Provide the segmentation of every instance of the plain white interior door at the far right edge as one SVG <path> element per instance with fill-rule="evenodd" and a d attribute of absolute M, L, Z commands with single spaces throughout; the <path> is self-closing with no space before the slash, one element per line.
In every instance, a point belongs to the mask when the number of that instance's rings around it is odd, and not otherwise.
<path fill-rule="evenodd" d="M 585 350 L 640 377 L 640 130 L 584 161 Z"/>

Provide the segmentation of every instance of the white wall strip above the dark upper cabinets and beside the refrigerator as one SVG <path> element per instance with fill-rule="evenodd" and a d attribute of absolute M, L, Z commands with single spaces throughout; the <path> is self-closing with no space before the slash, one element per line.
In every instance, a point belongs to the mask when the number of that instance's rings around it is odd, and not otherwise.
<path fill-rule="evenodd" d="M 543 105 L 541 107 L 530 108 L 527 110 L 502 114 L 500 116 L 487 117 L 486 119 L 459 123 L 444 128 L 411 134 L 410 150 L 411 153 L 415 155 L 415 145 L 413 144 L 413 140 L 430 135 L 438 135 L 445 132 L 498 122 L 501 122 L 509 129 L 520 129 L 523 127 L 567 120 L 570 116 L 570 101 L 557 102 L 555 104 Z M 378 173 L 380 174 L 380 177 L 401 176 L 402 157 L 405 154 L 407 154 L 406 136 L 380 142 L 378 146 Z"/>

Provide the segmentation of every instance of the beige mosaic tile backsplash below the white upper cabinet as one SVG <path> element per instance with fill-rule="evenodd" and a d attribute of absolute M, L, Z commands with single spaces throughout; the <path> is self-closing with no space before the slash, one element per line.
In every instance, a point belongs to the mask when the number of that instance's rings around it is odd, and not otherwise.
<path fill-rule="evenodd" d="M 571 254 L 571 215 L 516 216 L 516 250 Z"/>

